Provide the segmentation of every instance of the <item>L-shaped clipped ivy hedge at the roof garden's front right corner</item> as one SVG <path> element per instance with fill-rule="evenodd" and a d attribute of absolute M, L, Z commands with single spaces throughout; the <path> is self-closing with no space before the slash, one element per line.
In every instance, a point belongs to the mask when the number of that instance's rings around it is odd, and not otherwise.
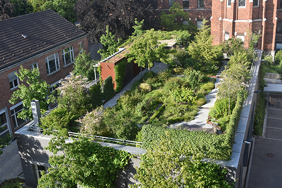
<path fill-rule="evenodd" d="M 241 108 L 243 107 L 243 102 L 246 98 L 245 94 L 246 91 L 241 91 L 238 94 L 235 108 L 233 109 L 233 113 L 227 126 L 226 134 L 217 135 L 203 131 L 167 129 L 147 124 L 142 128 L 142 148 L 152 149 L 152 141 L 160 140 L 162 136 L 166 135 L 165 132 L 168 131 L 171 133 L 172 139 L 175 141 L 175 145 L 172 145 L 172 147 L 179 147 L 182 142 L 190 142 L 195 151 L 202 151 L 207 158 L 230 160 Z"/>

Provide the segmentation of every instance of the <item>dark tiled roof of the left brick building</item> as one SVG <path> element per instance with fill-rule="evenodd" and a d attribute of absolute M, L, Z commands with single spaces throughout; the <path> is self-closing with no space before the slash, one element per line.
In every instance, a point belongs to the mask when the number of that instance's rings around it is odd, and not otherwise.
<path fill-rule="evenodd" d="M 83 35 L 51 9 L 2 20 L 0 69 Z"/>

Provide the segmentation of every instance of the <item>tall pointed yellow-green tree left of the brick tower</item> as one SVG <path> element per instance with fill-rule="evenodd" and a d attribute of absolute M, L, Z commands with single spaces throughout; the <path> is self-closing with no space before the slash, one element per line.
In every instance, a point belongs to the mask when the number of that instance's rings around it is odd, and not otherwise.
<path fill-rule="evenodd" d="M 218 63 L 217 58 L 221 52 L 212 45 L 213 36 L 211 36 L 211 28 L 207 23 L 208 21 L 204 19 L 202 28 L 195 35 L 195 40 L 189 44 L 188 53 L 202 70 L 211 72 Z"/>

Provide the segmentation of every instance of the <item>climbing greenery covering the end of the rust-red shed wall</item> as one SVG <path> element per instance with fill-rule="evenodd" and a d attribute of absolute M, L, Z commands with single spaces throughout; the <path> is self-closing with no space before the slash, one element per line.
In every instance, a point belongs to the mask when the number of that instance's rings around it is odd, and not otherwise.
<path fill-rule="evenodd" d="M 123 87 L 123 80 L 124 80 L 125 71 L 126 71 L 126 62 L 127 60 L 122 60 L 117 65 L 114 66 L 115 92 L 119 92 Z"/>

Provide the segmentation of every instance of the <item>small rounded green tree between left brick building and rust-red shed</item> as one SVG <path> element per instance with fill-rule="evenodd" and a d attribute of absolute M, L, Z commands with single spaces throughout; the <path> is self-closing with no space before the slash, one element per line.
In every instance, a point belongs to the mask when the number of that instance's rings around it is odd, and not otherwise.
<path fill-rule="evenodd" d="M 86 53 L 83 51 L 79 53 L 77 57 L 75 57 L 73 74 L 76 76 L 83 75 L 88 78 L 88 80 L 95 80 L 95 61 L 90 59 L 90 53 Z"/>

